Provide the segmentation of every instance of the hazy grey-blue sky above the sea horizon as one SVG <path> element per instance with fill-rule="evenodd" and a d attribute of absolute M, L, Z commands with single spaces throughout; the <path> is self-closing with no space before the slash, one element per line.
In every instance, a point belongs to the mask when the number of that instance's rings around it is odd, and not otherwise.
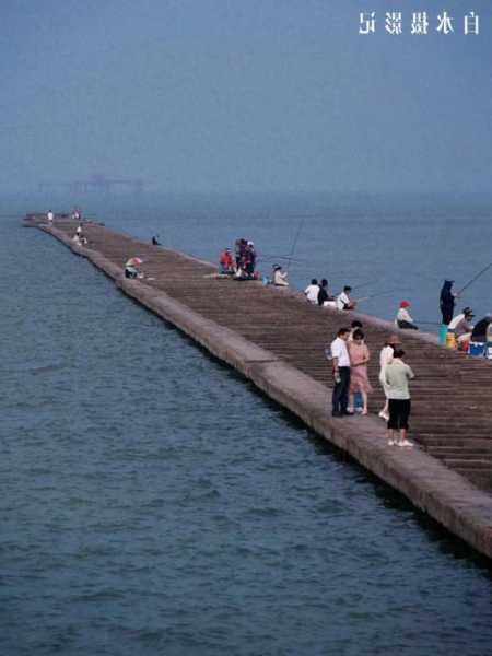
<path fill-rule="evenodd" d="M 490 0 L 2 0 L 0 188 L 488 191 L 491 55 Z"/>

